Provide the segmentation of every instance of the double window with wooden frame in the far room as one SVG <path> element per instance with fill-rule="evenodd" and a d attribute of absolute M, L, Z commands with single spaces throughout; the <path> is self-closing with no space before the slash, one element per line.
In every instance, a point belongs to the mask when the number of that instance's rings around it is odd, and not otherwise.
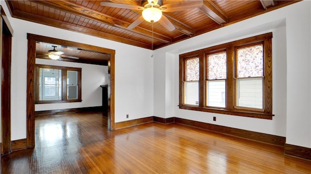
<path fill-rule="evenodd" d="M 81 68 L 36 65 L 36 104 L 81 101 Z"/>

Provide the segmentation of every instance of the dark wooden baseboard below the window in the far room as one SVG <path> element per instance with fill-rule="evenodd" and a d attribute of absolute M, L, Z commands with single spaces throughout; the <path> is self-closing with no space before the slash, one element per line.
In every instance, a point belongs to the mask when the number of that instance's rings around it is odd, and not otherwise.
<path fill-rule="evenodd" d="M 93 106 L 93 107 L 72 108 L 72 109 L 35 111 L 35 116 L 74 114 L 74 113 L 89 112 L 89 111 L 103 112 L 103 107 L 102 106 Z"/>

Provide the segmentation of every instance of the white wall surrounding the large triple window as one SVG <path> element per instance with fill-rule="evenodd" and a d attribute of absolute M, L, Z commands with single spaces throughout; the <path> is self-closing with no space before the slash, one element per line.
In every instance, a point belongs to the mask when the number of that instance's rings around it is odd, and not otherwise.
<path fill-rule="evenodd" d="M 297 2 L 155 50 L 155 116 L 284 136 L 287 144 L 311 147 L 310 3 Z M 267 32 L 273 32 L 273 120 L 178 108 L 180 54 Z M 173 106 L 167 96 L 173 96 Z M 213 116 L 217 116 L 217 122 L 212 121 Z"/>

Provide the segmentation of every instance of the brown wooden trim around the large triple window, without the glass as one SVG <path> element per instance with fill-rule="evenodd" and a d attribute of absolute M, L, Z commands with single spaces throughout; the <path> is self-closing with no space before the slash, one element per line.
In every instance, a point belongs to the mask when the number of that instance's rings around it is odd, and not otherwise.
<path fill-rule="evenodd" d="M 235 108 L 235 95 L 234 95 L 234 78 L 235 78 L 235 49 L 237 47 L 251 45 L 256 43 L 263 43 L 263 67 L 264 67 L 264 107 L 261 110 L 247 110 L 246 108 Z M 206 96 L 206 57 L 208 54 L 226 51 L 227 54 L 227 79 L 226 79 L 226 108 L 216 108 L 205 106 Z M 184 87 L 183 81 L 185 79 L 185 65 L 186 58 L 199 57 L 199 106 L 183 104 Z M 226 114 L 233 116 L 247 116 L 263 119 L 272 119 L 272 32 L 261 34 L 230 43 L 224 43 L 201 50 L 192 51 L 189 53 L 179 55 L 179 108 L 194 111 Z"/>

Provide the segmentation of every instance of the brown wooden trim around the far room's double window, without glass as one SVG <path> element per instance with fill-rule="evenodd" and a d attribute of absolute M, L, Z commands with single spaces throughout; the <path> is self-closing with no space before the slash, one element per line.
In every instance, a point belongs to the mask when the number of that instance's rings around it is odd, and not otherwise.
<path fill-rule="evenodd" d="M 39 78 L 40 68 L 50 68 L 62 70 L 62 100 L 51 100 L 51 101 L 40 101 L 39 94 Z M 77 71 L 78 72 L 78 99 L 67 99 L 67 71 Z M 66 72 L 66 73 L 65 73 Z M 54 66 L 54 65 L 42 65 L 35 64 L 35 104 L 47 104 L 47 103 L 65 103 L 65 102 L 82 102 L 82 68 L 74 67 L 64 67 L 64 66 Z"/>

